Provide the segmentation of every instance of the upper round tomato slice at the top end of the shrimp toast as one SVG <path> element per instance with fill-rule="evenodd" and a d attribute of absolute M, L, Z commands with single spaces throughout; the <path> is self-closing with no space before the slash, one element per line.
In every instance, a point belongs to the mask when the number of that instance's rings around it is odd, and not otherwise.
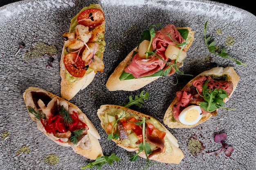
<path fill-rule="evenodd" d="M 104 20 L 104 13 L 100 9 L 87 9 L 82 11 L 77 17 L 77 22 L 79 24 L 88 27 L 99 26 L 104 22 Z"/>

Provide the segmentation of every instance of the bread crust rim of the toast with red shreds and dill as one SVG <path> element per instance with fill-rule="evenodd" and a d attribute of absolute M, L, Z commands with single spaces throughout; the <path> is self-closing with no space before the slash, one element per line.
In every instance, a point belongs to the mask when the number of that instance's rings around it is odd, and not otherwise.
<path fill-rule="evenodd" d="M 40 89 L 37 87 L 28 87 L 25 90 L 25 92 L 23 93 L 23 98 L 24 98 L 26 107 L 31 106 L 33 108 L 36 108 L 36 106 L 34 105 L 34 102 L 32 100 L 31 92 L 44 92 L 51 98 L 56 97 L 59 101 L 64 100 L 63 98 L 60 98 L 60 97 L 58 97 L 50 92 L 47 92 L 43 89 Z M 80 146 L 76 146 L 69 141 L 68 142 L 56 141 L 56 138 L 52 134 L 49 134 L 45 131 L 41 122 L 36 120 L 36 118 L 34 117 L 33 114 L 29 113 L 29 116 L 31 117 L 32 120 L 34 120 L 37 123 L 37 127 L 41 127 L 38 129 L 40 131 L 42 131 L 47 137 L 49 137 L 49 139 L 56 142 L 57 144 L 59 144 L 61 146 L 65 146 L 65 147 L 71 147 L 74 150 L 74 152 L 76 152 L 88 159 L 95 160 L 97 157 L 103 156 L 102 149 L 101 149 L 101 146 L 100 146 L 99 140 L 98 140 L 98 139 L 101 139 L 101 137 L 100 137 L 97 129 L 94 127 L 92 122 L 87 118 L 87 116 L 76 105 L 68 102 L 67 100 L 64 100 L 64 101 L 66 101 L 68 103 L 69 107 L 74 107 L 77 110 L 78 115 L 82 114 L 85 124 L 87 124 L 87 126 L 89 127 L 89 130 L 87 131 L 87 138 L 86 138 L 86 142 L 87 142 L 88 146 L 90 146 L 88 148 L 88 150 L 82 149 Z"/>

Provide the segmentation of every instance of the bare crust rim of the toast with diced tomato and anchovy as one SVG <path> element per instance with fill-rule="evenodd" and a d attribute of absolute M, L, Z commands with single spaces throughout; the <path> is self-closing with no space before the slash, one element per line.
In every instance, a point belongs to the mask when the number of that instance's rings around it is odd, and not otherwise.
<path fill-rule="evenodd" d="M 106 131 L 106 127 L 104 125 L 104 120 L 103 120 L 103 116 L 105 114 L 105 111 L 110 109 L 110 108 L 117 108 L 117 109 L 123 109 L 126 112 L 130 113 L 131 115 L 137 115 L 139 116 L 139 118 L 143 118 L 145 117 L 146 119 L 149 119 L 151 116 L 145 115 L 143 113 L 128 109 L 126 107 L 122 107 L 122 106 L 118 106 L 118 105 L 101 105 L 101 107 L 98 109 L 97 111 L 97 115 L 99 117 L 99 119 L 101 120 L 101 126 L 102 128 Z M 159 124 L 161 124 L 159 122 Z M 162 125 L 162 124 L 161 124 Z M 171 134 L 170 131 L 168 131 L 166 129 L 166 127 L 164 125 L 162 125 L 162 127 L 165 129 L 166 132 L 166 137 L 168 138 L 171 147 L 173 149 L 173 152 L 171 153 L 164 153 L 162 155 L 154 155 L 153 157 L 150 157 L 151 160 L 155 160 L 155 161 L 159 161 L 159 162 L 164 162 L 164 163 L 180 163 L 180 161 L 184 158 L 184 154 L 182 152 L 182 150 L 180 150 L 179 148 L 179 144 L 177 142 L 177 139 L 173 136 L 173 134 Z M 129 151 L 129 152 L 137 152 L 139 148 L 132 148 L 129 145 L 124 145 L 122 144 L 119 140 L 117 139 L 112 139 L 118 146 L 120 146 L 121 148 L 124 148 L 125 150 Z M 144 152 L 141 152 L 139 154 L 140 157 L 144 157 L 146 158 L 146 155 Z"/>

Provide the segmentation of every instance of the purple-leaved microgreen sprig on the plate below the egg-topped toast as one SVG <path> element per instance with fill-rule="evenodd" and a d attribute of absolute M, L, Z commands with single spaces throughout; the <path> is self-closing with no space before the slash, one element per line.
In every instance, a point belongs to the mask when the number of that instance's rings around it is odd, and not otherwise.
<path fill-rule="evenodd" d="M 219 156 L 219 154 L 222 151 L 225 151 L 225 155 L 227 157 L 231 156 L 231 153 L 233 152 L 234 148 L 232 146 L 229 146 L 228 144 L 226 144 L 224 141 L 227 139 L 227 134 L 226 133 L 221 133 L 221 134 L 216 134 L 214 137 L 214 142 L 220 142 L 222 144 L 222 148 L 220 148 L 219 150 L 207 153 L 208 155 L 216 155 L 216 157 Z"/>

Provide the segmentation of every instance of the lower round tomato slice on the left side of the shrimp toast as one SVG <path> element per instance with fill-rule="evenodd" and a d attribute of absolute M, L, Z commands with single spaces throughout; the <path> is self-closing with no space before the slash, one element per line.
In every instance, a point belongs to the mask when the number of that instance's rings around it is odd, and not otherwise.
<path fill-rule="evenodd" d="M 65 68 L 74 77 L 83 77 L 85 75 L 85 64 L 80 56 L 76 53 L 69 53 L 64 56 L 63 59 Z"/>

